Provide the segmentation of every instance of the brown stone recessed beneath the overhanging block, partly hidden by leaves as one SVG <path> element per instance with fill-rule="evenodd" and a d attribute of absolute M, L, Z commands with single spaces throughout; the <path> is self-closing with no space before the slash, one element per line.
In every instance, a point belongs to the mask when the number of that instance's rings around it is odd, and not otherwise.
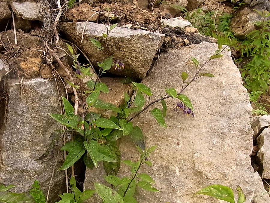
<path fill-rule="evenodd" d="M 130 96 L 133 94 L 133 89 L 130 84 L 123 84 L 121 81 L 124 78 L 100 78 L 101 82 L 104 82 L 108 88 L 110 88 L 109 94 L 101 92 L 99 95 L 99 99 L 104 102 L 112 103 L 113 105 L 119 107 L 121 106 L 125 99 L 124 93 L 128 93 Z M 100 113 L 102 117 L 110 118 L 111 115 L 117 116 L 117 113 L 111 110 L 98 109 L 95 107 L 91 107 L 90 111 Z"/>

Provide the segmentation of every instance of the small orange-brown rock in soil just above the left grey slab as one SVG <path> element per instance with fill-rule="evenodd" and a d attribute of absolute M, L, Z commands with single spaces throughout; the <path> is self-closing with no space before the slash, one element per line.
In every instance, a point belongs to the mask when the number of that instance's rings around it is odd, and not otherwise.
<path fill-rule="evenodd" d="M 27 57 L 26 61 L 20 63 L 20 67 L 23 70 L 26 78 L 34 78 L 39 74 L 39 69 L 41 67 L 41 58 Z"/>

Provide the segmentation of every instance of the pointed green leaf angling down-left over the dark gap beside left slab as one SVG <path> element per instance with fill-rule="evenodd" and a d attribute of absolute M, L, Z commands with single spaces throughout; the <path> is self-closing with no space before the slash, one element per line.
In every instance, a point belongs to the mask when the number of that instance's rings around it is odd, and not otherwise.
<path fill-rule="evenodd" d="M 82 157 L 84 152 L 85 149 L 82 149 L 80 146 L 73 147 L 73 149 L 68 152 L 66 160 L 58 171 L 68 169 L 70 166 L 74 165 L 76 161 Z"/>

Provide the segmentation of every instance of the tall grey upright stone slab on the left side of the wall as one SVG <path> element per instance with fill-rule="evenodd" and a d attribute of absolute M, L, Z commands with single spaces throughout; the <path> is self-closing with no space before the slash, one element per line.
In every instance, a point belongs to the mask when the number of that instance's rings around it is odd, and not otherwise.
<path fill-rule="evenodd" d="M 14 184 L 16 192 L 26 192 L 38 180 L 46 194 L 57 157 L 57 146 L 49 150 L 46 160 L 37 160 L 52 143 L 55 129 L 61 126 L 48 113 L 60 113 L 55 82 L 43 78 L 9 81 L 8 115 L 5 129 L 0 129 L 0 182 Z M 23 88 L 23 89 L 22 89 Z M 59 139 L 59 137 L 55 137 Z M 55 168 L 50 199 L 65 188 L 60 152 Z M 19 181 L 18 181 L 19 180 Z"/>

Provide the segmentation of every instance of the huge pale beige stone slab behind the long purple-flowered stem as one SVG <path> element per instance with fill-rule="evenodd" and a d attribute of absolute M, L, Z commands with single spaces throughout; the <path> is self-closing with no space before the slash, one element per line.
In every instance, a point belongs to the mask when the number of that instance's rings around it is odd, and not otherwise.
<path fill-rule="evenodd" d="M 142 83 L 152 89 L 151 101 L 165 95 L 165 88 L 181 90 L 181 72 L 189 78 L 195 73 L 191 56 L 202 65 L 217 50 L 217 44 L 202 42 L 179 50 L 162 53 Z M 158 145 L 148 158 L 152 167 L 142 168 L 156 182 L 161 192 L 138 191 L 137 201 L 214 203 L 217 200 L 191 197 L 193 192 L 210 184 L 222 184 L 235 188 L 238 184 L 246 194 L 246 203 L 251 203 L 254 193 L 253 168 L 250 164 L 252 134 L 249 117 L 251 106 L 247 90 L 242 85 L 238 68 L 233 63 L 230 51 L 211 60 L 202 72 L 215 75 L 201 77 L 184 91 L 194 108 L 195 117 L 173 111 L 177 100 L 167 100 L 167 129 L 161 128 L 155 118 L 145 111 L 133 120 L 145 134 L 147 147 Z M 149 102 L 149 99 L 145 97 Z M 229 107 L 229 109 L 228 109 Z M 161 108 L 161 104 L 153 105 Z M 122 138 L 121 138 L 122 139 Z M 137 161 L 137 149 L 123 137 L 120 143 L 122 160 Z M 119 176 L 130 171 L 121 165 Z M 241 177 L 241 178 L 240 178 Z"/>

